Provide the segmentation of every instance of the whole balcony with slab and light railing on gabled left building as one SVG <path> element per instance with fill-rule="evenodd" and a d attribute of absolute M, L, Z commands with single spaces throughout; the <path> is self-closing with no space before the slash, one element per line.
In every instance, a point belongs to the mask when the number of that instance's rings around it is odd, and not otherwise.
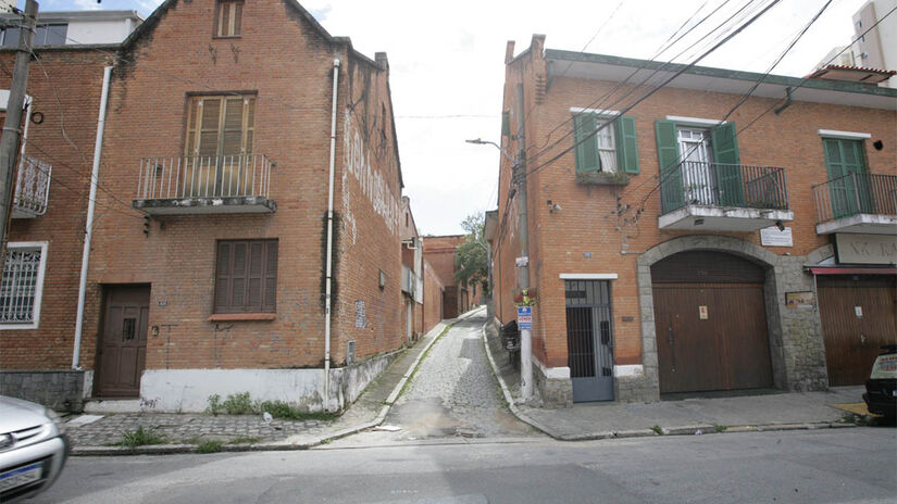
<path fill-rule="evenodd" d="M 265 154 L 144 158 L 133 206 L 152 215 L 272 213 Z"/>

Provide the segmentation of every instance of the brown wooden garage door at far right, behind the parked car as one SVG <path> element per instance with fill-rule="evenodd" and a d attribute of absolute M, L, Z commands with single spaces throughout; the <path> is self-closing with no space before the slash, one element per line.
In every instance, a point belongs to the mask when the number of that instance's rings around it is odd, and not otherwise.
<path fill-rule="evenodd" d="M 819 277 L 829 385 L 862 385 L 885 344 L 897 344 L 897 279 Z"/>

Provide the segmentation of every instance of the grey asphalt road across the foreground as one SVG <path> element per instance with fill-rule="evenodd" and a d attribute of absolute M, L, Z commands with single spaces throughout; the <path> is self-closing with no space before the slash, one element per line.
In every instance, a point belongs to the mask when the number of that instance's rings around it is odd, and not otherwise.
<path fill-rule="evenodd" d="M 893 428 L 77 457 L 35 503 L 894 502 Z"/>

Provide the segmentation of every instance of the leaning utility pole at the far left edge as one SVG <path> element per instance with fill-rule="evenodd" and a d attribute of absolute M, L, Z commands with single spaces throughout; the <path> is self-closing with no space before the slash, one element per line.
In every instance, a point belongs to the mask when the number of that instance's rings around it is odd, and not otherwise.
<path fill-rule="evenodd" d="M 15 159 L 22 136 L 22 112 L 25 104 L 25 88 L 28 85 L 28 62 L 32 56 L 32 41 L 37 24 L 37 2 L 26 0 L 22 28 L 18 32 L 18 49 L 15 53 L 10 99 L 7 103 L 7 121 L 0 137 L 0 261 L 7 257 L 7 235 L 10 228 L 10 206 L 15 191 Z M 26 117 L 27 119 L 27 117 Z"/>

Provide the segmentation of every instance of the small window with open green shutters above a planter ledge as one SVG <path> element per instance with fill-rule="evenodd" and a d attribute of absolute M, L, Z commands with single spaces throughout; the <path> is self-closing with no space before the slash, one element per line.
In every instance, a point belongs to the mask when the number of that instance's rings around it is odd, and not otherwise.
<path fill-rule="evenodd" d="M 635 119 L 632 117 L 611 119 L 589 112 L 577 113 L 573 115 L 573 137 L 577 173 L 638 173 Z"/>

